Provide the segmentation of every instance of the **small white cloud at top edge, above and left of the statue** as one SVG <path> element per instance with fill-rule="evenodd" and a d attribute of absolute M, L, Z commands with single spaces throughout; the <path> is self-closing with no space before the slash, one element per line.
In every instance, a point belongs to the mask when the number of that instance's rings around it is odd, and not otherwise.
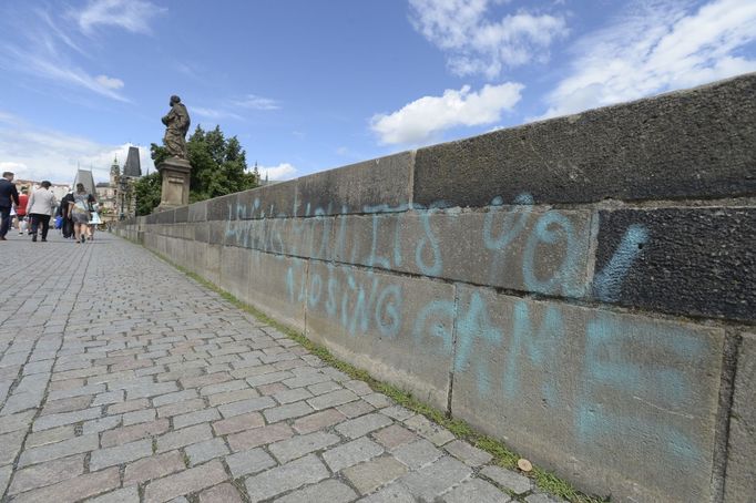
<path fill-rule="evenodd" d="M 119 27 L 133 33 L 150 33 L 152 18 L 166 11 L 143 0 L 91 0 L 80 12 L 70 12 L 81 30 L 91 34 L 99 25 Z"/>

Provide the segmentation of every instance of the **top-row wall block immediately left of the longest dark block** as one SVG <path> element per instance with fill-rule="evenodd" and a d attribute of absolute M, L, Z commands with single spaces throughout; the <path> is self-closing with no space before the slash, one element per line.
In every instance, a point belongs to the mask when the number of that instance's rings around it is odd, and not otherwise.
<path fill-rule="evenodd" d="M 410 201 L 411 152 L 303 176 L 297 216 L 403 209 Z M 308 212 L 309 211 L 309 212 Z"/>

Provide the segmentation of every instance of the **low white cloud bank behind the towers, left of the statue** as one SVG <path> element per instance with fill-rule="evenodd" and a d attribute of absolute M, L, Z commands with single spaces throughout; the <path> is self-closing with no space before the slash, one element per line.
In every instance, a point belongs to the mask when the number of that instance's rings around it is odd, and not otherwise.
<path fill-rule="evenodd" d="M 154 171 L 150 148 L 126 143 L 108 145 L 90 138 L 33 126 L 0 112 L 0 158 L 19 178 L 71 183 L 76 168 L 92 170 L 95 182 L 108 182 L 113 157 L 123 166 L 130 146 L 140 147 L 142 173 Z"/>

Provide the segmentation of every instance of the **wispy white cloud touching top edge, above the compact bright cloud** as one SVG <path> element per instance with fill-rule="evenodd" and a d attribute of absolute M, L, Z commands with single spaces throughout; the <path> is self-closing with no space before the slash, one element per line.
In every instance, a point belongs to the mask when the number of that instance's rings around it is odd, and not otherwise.
<path fill-rule="evenodd" d="M 458 75 L 498 76 L 505 66 L 549 60 L 551 43 L 568 34 L 564 18 L 524 10 L 490 19 L 501 0 L 410 0 L 410 21 L 447 53 Z"/>

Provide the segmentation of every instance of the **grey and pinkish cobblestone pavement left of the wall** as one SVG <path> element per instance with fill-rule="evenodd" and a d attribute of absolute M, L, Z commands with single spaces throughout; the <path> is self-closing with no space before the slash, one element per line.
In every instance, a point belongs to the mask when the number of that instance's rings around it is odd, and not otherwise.
<path fill-rule="evenodd" d="M 0 250 L 2 501 L 551 501 L 139 246 Z"/>

